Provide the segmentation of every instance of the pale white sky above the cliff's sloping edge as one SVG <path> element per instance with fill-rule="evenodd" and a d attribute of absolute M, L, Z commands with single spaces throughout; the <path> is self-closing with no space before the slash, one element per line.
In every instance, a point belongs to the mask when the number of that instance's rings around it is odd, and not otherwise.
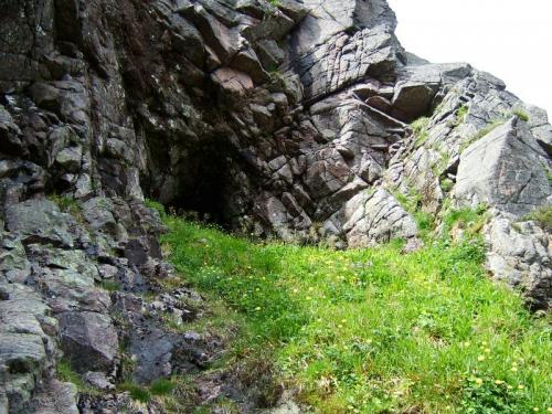
<path fill-rule="evenodd" d="M 552 118 L 552 0 L 388 1 L 408 52 L 490 72 Z"/>

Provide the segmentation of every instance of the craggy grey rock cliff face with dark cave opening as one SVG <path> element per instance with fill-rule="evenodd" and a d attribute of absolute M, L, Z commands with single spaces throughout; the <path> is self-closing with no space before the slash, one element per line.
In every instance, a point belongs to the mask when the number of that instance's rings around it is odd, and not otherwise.
<path fill-rule="evenodd" d="M 123 347 L 138 382 L 216 352 L 156 319 L 193 318 L 201 298 L 161 289 L 145 195 L 341 248 L 415 248 L 405 197 L 437 220 L 485 204 L 492 276 L 550 306 L 550 230 L 527 219 L 552 203 L 545 113 L 405 52 L 384 0 L 1 3 L 1 413 L 117 412 L 124 395 L 78 400 L 55 380 L 62 353 L 109 389 Z"/>

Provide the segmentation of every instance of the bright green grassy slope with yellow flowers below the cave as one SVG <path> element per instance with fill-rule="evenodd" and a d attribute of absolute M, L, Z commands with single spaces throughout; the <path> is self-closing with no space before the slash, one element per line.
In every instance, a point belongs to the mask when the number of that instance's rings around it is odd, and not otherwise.
<path fill-rule="evenodd" d="M 550 317 L 486 277 L 477 238 L 335 252 L 164 221 L 182 277 L 240 315 L 234 355 L 317 412 L 552 412 Z"/>

